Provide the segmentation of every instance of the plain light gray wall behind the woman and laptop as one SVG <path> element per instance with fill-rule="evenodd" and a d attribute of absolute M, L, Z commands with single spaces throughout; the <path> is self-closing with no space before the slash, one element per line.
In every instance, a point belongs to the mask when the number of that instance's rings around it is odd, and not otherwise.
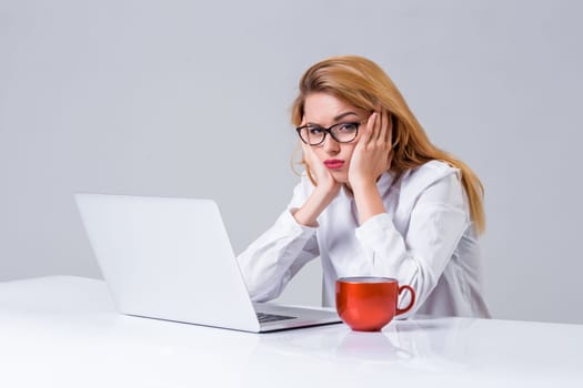
<path fill-rule="evenodd" d="M 308 65 L 370 57 L 486 188 L 497 318 L 583 323 L 577 1 L 0 2 L 0 280 L 100 277 L 71 193 L 213 197 L 237 253 L 298 177 Z M 319 304 L 310 264 L 284 302 Z"/>

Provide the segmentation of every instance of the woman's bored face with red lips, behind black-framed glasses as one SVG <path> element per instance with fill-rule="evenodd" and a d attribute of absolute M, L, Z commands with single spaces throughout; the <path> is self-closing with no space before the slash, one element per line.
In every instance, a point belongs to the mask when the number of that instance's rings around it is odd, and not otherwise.
<path fill-rule="evenodd" d="M 362 122 L 368 116 L 365 111 L 356 109 L 331 94 L 316 92 L 305 98 L 302 125 L 328 129 L 339 123 Z M 350 161 L 359 137 L 360 131 L 354 141 L 339 143 L 328 133 L 323 143 L 312 146 L 316 157 L 330 171 L 336 182 L 349 182 Z"/>

